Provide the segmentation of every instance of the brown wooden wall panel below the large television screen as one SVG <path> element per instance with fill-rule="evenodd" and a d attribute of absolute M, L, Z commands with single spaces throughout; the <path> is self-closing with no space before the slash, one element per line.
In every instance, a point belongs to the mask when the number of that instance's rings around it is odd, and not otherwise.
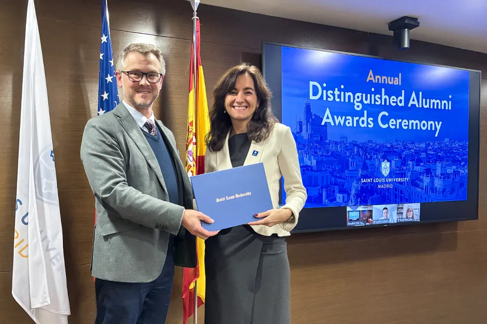
<path fill-rule="evenodd" d="M 484 323 L 486 234 L 291 245 L 292 322 Z"/>

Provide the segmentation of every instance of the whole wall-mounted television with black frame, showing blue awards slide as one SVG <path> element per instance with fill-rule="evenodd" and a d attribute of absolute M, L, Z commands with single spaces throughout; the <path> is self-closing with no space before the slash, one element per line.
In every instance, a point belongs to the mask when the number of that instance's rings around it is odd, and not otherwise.
<path fill-rule="evenodd" d="M 295 232 L 478 218 L 480 71 L 266 42 L 262 57 L 308 195 Z"/>

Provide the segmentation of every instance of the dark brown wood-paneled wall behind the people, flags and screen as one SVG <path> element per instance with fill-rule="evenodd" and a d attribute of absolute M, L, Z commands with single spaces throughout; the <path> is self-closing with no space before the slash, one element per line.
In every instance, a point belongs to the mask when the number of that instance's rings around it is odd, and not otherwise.
<path fill-rule="evenodd" d="M 98 0 L 36 0 L 56 154 L 64 254 L 72 315 L 92 323 L 89 272 L 94 198 L 79 158 L 86 121 L 96 114 L 101 16 Z M 0 322 L 30 323 L 11 297 L 12 243 L 26 2 L 0 2 Z M 184 159 L 192 10 L 183 0 L 109 1 L 114 55 L 133 42 L 157 45 L 167 61 L 155 114 L 174 133 Z M 208 103 L 220 75 L 241 61 L 261 65 L 262 41 L 482 70 L 480 169 L 487 161 L 487 55 L 200 5 L 201 58 Z M 236 23 L 239 22 L 239 23 Z M 479 220 L 288 239 L 293 323 L 472 323 L 487 321 L 486 174 Z M 181 323 L 182 269 L 176 270 L 167 323 Z M 458 306 L 458 307 L 456 307 Z M 199 309 L 203 323 L 204 307 Z M 191 321 L 190 321 L 191 322 Z M 231 321 L 230 321 L 231 322 Z"/>

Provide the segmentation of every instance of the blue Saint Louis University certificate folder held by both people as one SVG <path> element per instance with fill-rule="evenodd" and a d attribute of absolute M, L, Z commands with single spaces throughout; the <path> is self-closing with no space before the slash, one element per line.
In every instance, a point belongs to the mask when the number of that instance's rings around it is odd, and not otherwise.
<path fill-rule="evenodd" d="M 262 163 L 190 177 L 198 211 L 215 222 L 201 222 L 217 231 L 259 220 L 255 214 L 272 209 Z"/>

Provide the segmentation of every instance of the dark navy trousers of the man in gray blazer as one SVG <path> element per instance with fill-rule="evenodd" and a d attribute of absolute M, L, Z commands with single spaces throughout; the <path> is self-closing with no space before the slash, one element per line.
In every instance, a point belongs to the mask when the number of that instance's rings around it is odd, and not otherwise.
<path fill-rule="evenodd" d="M 168 249 L 161 274 L 151 282 L 95 279 L 95 324 L 164 324 L 171 299 L 174 260 Z"/>

